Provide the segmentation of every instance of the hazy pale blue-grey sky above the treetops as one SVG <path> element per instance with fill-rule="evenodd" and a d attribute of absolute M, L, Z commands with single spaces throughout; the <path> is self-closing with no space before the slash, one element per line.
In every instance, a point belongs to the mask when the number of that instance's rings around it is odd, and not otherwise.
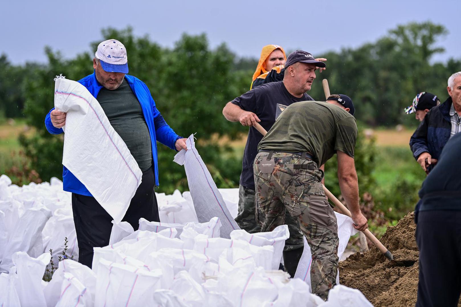
<path fill-rule="evenodd" d="M 48 45 L 71 58 L 101 41 L 100 29 L 131 25 L 162 46 L 173 46 L 183 32 L 205 32 L 212 47 L 226 42 L 239 56 L 259 58 L 262 46 L 278 44 L 320 57 L 375 41 L 397 24 L 430 20 L 449 30 L 439 41 L 446 52 L 435 58 L 445 61 L 461 57 L 460 13 L 459 0 L 4 1 L 0 53 L 14 64 L 45 62 Z"/>

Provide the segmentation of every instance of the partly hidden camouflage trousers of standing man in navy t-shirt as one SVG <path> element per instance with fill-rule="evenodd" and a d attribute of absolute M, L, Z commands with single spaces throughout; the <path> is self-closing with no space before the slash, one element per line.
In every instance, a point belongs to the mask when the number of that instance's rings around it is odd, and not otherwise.
<path fill-rule="evenodd" d="M 238 189 L 238 215 L 235 218 L 238 226 L 245 229 L 248 233 L 261 232 L 261 226 L 256 222 L 256 205 L 254 190 L 240 185 Z M 304 248 L 302 232 L 299 223 L 291 215 L 287 215 L 285 224 L 288 225 L 290 237 L 285 241 L 284 251 Z"/>

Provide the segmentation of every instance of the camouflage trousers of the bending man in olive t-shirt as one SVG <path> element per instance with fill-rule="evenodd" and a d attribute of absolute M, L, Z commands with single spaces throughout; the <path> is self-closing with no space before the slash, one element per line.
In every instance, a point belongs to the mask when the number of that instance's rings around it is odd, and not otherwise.
<path fill-rule="evenodd" d="M 288 211 L 299 223 L 312 253 L 312 293 L 324 300 L 336 284 L 338 268 L 337 221 L 320 180 L 317 164 L 296 154 L 260 152 L 253 164 L 256 220 L 261 231 L 285 223 Z"/>

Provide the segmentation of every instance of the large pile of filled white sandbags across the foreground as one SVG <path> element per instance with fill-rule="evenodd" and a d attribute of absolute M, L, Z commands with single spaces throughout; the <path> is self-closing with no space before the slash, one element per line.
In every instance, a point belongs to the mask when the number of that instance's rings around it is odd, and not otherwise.
<path fill-rule="evenodd" d="M 237 189 L 220 190 L 236 214 Z M 112 228 L 110 244 L 95 248 L 93 269 L 64 260 L 42 281 L 68 238 L 77 258 L 70 193 L 62 182 L 11 185 L 0 177 L 0 306 L 371 306 L 358 290 L 341 285 L 327 302 L 301 279 L 276 271 L 287 226 L 273 232 L 231 232 L 221 221 L 198 223 L 192 199 L 157 194 L 161 223 L 140 220 Z"/>

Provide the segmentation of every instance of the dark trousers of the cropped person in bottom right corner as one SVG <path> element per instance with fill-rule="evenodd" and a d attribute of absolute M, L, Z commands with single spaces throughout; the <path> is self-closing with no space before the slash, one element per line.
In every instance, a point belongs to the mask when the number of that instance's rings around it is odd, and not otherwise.
<path fill-rule="evenodd" d="M 417 307 L 456 307 L 461 294 L 461 211 L 421 211 Z"/>

